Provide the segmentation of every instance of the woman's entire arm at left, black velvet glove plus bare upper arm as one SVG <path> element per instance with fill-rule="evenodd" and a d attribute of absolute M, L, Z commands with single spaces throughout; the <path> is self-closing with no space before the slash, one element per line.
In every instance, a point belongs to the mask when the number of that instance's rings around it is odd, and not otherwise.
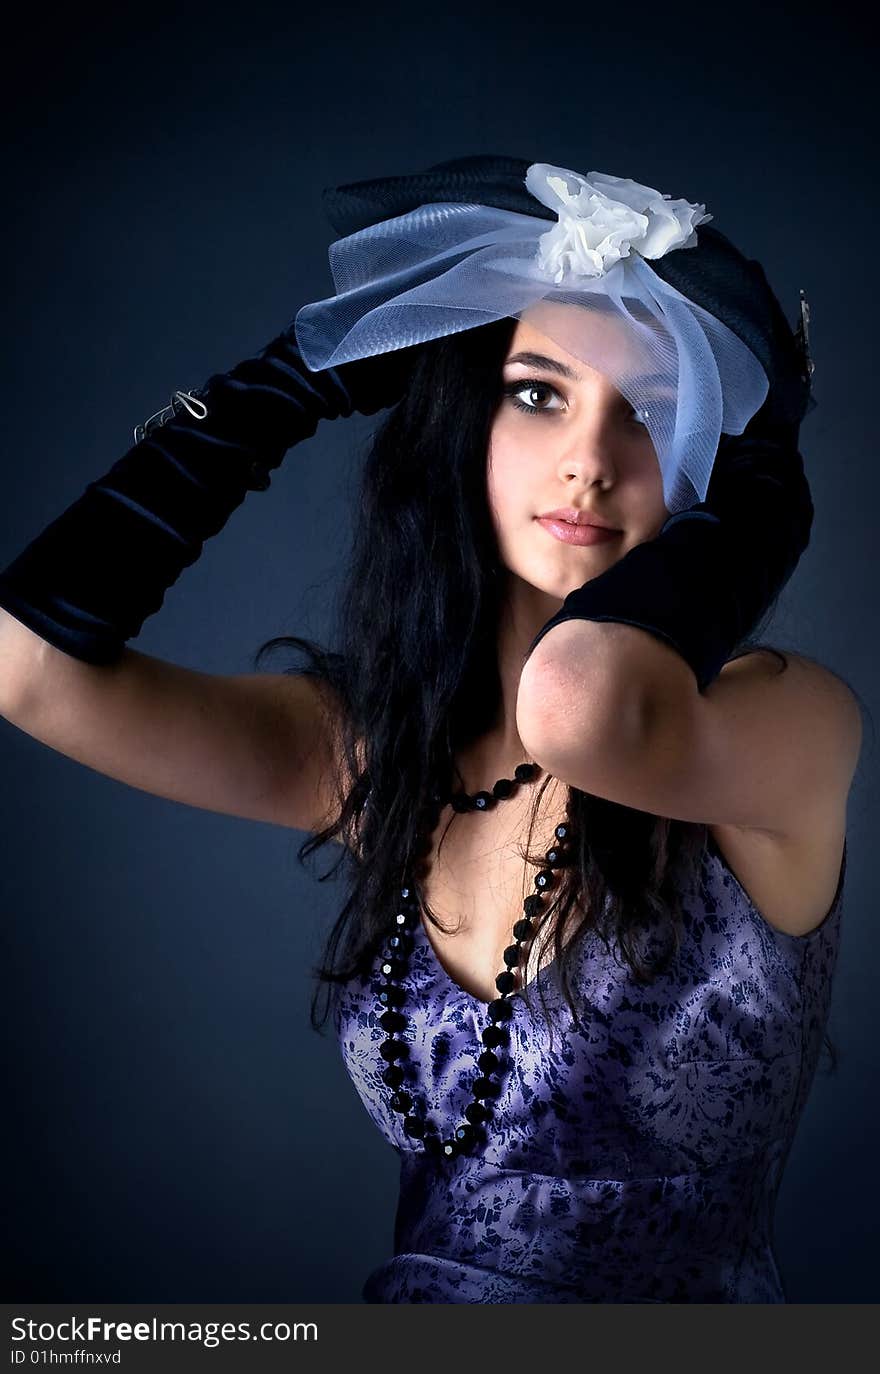
<path fill-rule="evenodd" d="M 309 372 L 292 330 L 140 430 L 0 572 L 0 710 L 80 763 L 191 807 L 316 829 L 338 703 L 298 675 L 217 676 L 126 647 L 206 539 L 322 418 L 400 398 L 400 354 Z"/>

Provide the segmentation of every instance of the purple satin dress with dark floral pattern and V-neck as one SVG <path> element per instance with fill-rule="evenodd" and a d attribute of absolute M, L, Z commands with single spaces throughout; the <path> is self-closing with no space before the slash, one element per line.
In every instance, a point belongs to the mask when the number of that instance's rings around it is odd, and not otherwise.
<path fill-rule="evenodd" d="M 782 1169 L 810 1092 L 837 959 L 847 851 L 822 923 L 774 930 L 707 831 L 682 883 L 685 934 L 652 985 L 590 933 L 578 1021 L 554 965 L 514 993 L 510 1069 L 477 1154 L 433 1160 L 389 1103 L 385 1032 L 366 978 L 334 1000 L 351 1079 L 400 1156 L 395 1253 L 367 1303 L 785 1303 L 773 1250 Z M 407 985 L 414 1074 L 429 1116 L 463 1120 L 485 1003 L 417 926 Z M 532 987 L 535 993 L 535 987 Z"/>

